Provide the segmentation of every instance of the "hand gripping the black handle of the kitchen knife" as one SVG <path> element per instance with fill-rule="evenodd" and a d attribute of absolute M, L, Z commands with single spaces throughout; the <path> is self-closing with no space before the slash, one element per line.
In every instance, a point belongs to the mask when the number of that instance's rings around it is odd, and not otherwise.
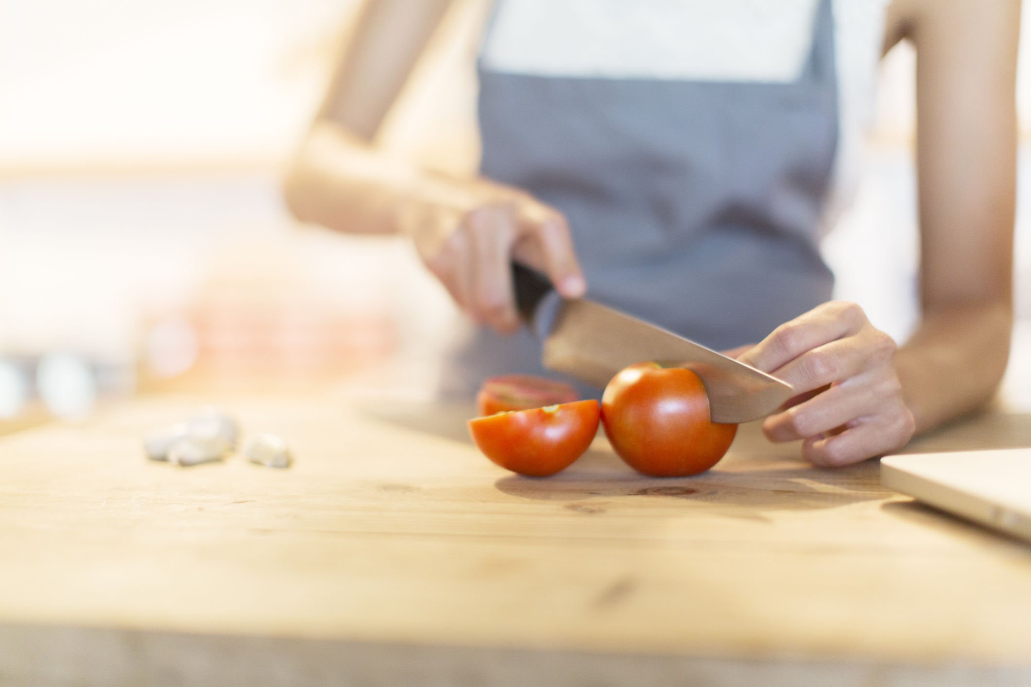
<path fill-rule="evenodd" d="M 565 217 L 522 191 L 485 180 L 451 181 L 402 218 L 423 262 L 477 322 L 519 328 L 511 261 L 545 273 L 566 298 L 587 290 Z"/>

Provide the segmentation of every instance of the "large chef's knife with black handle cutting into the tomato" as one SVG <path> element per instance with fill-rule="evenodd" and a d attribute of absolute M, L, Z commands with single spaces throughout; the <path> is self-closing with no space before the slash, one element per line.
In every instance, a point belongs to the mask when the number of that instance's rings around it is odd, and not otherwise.
<path fill-rule="evenodd" d="M 512 273 L 520 314 L 543 340 L 550 370 L 604 388 L 634 363 L 690 368 L 705 384 L 714 422 L 764 417 L 792 397 L 791 385 L 732 357 L 587 299 L 563 299 L 522 265 Z"/>

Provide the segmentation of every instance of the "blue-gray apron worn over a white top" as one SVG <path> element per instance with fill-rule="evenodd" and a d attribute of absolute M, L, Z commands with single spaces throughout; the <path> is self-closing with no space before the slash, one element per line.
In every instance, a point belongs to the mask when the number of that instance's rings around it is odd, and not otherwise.
<path fill-rule="evenodd" d="M 819 247 L 838 133 L 830 0 L 791 82 L 478 71 L 480 171 L 565 214 L 591 299 L 718 349 L 830 299 Z M 446 396 L 492 375 L 561 378 L 526 330 L 470 332 L 445 366 Z"/>

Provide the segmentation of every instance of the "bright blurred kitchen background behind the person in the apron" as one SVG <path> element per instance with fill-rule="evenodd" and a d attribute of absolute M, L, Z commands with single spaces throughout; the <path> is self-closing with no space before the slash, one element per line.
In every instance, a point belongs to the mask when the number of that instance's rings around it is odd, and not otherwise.
<path fill-rule="evenodd" d="M 0 0 L 0 432 L 140 392 L 432 386 L 458 321 L 444 291 L 403 242 L 299 227 L 279 192 L 357 6 Z M 381 133 L 391 150 L 475 167 L 485 13 L 485 0 L 463 0 L 448 15 Z M 916 316 L 913 66 L 908 45 L 884 61 L 859 195 L 825 244 L 838 297 L 900 340 Z M 1006 398 L 1031 405 L 1029 386 L 1031 370 L 1011 366 Z"/>

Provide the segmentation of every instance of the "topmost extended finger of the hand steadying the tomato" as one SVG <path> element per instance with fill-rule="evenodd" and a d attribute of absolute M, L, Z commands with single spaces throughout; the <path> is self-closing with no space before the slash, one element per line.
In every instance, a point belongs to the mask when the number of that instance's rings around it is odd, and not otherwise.
<path fill-rule="evenodd" d="M 776 328 L 739 359 L 772 373 L 802 353 L 859 332 L 864 324 L 866 315 L 855 303 L 825 303 Z"/>

